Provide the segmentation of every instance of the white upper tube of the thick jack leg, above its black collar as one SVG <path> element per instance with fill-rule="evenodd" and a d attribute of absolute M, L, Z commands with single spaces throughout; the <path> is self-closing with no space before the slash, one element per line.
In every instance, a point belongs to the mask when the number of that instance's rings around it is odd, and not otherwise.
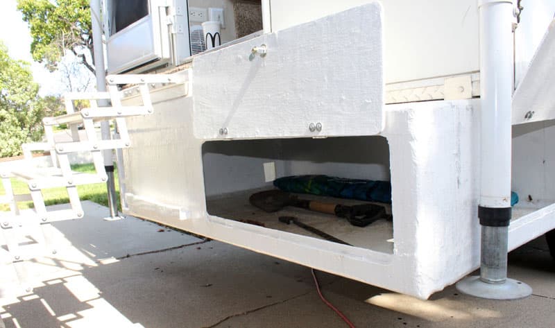
<path fill-rule="evenodd" d="M 511 207 L 512 17 L 511 1 L 479 2 L 481 207 Z"/>

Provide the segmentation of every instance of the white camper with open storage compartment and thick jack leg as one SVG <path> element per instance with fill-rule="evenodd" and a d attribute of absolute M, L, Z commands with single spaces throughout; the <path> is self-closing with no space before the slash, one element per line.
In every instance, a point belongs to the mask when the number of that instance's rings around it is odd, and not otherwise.
<path fill-rule="evenodd" d="M 125 2 L 104 6 L 112 105 L 153 110 L 109 116 L 125 214 L 423 299 L 479 267 L 461 290 L 531 292 L 506 252 L 555 228 L 553 1 Z M 249 202 L 298 175 L 391 203 L 360 227 Z"/>

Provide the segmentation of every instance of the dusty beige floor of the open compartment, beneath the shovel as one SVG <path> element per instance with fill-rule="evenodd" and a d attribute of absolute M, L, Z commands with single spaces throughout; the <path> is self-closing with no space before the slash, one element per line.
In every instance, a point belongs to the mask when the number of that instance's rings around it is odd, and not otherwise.
<path fill-rule="evenodd" d="M 208 213 L 221 218 L 228 218 L 234 221 L 262 223 L 268 229 L 301 234 L 318 239 L 321 236 L 313 234 L 297 225 L 287 225 L 278 221 L 280 216 L 295 216 L 298 221 L 315 227 L 318 230 L 330 234 L 346 243 L 350 243 L 359 248 L 367 248 L 377 252 L 393 254 L 393 223 L 385 219 L 379 219 L 366 227 L 355 227 L 344 218 L 337 218 L 330 214 L 319 214 L 306 209 L 296 207 L 285 207 L 284 209 L 266 213 L 250 205 L 248 198 L 250 195 L 262 189 L 240 191 L 224 196 L 216 196 L 207 199 Z M 356 205 L 365 202 L 360 200 L 347 200 L 341 198 L 322 197 L 306 194 L 296 194 L 302 199 L 319 200 L 321 202 L 332 202 L 342 205 Z M 376 203 L 384 205 L 382 203 Z M 391 214 L 391 205 L 385 204 L 387 214 Z"/>

